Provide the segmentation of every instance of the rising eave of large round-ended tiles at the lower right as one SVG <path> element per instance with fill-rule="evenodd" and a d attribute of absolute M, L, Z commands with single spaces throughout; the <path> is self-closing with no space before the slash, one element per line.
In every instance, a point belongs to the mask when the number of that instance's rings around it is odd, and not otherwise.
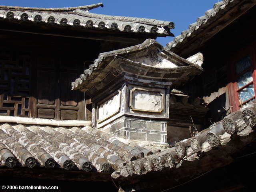
<path fill-rule="evenodd" d="M 227 150 L 229 154 L 235 153 L 239 147 L 242 148 L 243 146 L 240 142 L 238 142 L 240 146 L 236 146 L 235 142 L 230 141 L 245 141 L 248 138 L 247 136 L 253 132 L 252 128 L 255 128 L 255 125 L 256 102 L 251 102 L 242 109 L 229 114 L 222 121 L 199 132 L 194 137 L 176 143 L 175 147 L 129 162 L 121 168 L 120 175 L 127 177 L 133 174 L 142 175 L 159 171 L 165 167 L 178 168 L 184 161 L 200 160 L 202 152 L 207 155 L 207 152 L 216 149 L 218 146 L 226 145 L 226 148 L 218 148 L 218 150 Z M 246 142 L 243 145 L 246 145 Z M 113 174 L 113 176 L 118 177 L 117 174 Z"/>

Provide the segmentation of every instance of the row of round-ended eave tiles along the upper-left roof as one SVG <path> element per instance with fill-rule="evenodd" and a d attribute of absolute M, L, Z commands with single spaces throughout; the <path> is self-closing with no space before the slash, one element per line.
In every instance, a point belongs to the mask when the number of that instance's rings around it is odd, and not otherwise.
<path fill-rule="evenodd" d="M 98 6 L 100 6 L 100 4 L 98 4 Z M 124 22 L 122 20 L 118 20 L 118 18 L 116 18 L 116 20 L 91 18 L 88 16 L 78 15 L 74 11 L 60 11 L 60 9 L 59 11 L 40 11 L 28 9 L 17 10 L 13 7 L 10 9 L 0 8 L 0 19 L 5 19 L 8 22 L 18 20 L 20 22 L 28 21 L 29 23 L 37 22 L 58 26 L 73 26 L 80 28 L 92 28 L 96 30 L 112 30 L 113 32 L 116 31 L 134 34 L 151 34 L 152 38 L 156 38 L 156 36 L 174 36 L 170 32 L 170 29 L 166 26 L 156 26 L 154 23 L 147 25 L 136 21 Z M 82 10 L 80 11 L 83 12 Z"/>

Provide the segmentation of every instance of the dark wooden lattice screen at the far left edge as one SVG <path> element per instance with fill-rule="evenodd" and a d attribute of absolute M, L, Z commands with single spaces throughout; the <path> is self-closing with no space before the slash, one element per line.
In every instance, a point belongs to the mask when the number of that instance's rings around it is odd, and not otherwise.
<path fill-rule="evenodd" d="M 29 54 L 0 49 L 0 115 L 29 116 Z"/>

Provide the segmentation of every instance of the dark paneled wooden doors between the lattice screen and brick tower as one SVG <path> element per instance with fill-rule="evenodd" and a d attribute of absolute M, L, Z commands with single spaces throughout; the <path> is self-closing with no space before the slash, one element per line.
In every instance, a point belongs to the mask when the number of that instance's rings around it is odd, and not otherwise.
<path fill-rule="evenodd" d="M 84 119 L 83 93 L 71 90 L 71 82 L 77 78 L 82 68 L 80 66 L 78 69 L 78 63 L 82 62 L 75 58 L 63 61 L 54 57 L 40 57 L 37 62 L 37 117 Z"/>

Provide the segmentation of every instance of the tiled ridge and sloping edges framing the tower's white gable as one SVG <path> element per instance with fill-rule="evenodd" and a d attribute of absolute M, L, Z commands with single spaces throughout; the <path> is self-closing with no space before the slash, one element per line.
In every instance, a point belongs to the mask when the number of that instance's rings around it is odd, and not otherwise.
<path fill-rule="evenodd" d="M 100 78 L 96 78 L 96 76 L 98 76 L 98 74 L 101 71 L 104 71 L 105 69 L 106 71 L 108 71 L 111 67 L 107 68 L 106 66 L 109 65 L 114 59 L 123 60 L 125 62 L 132 63 L 133 65 L 140 65 L 140 66 L 143 66 L 143 68 L 147 68 L 151 70 L 152 69 L 151 66 L 148 66 L 141 62 L 134 61 L 132 58 L 126 57 L 126 54 L 129 55 L 129 54 L 133 54 L 134 52 L 143 51 L 144 49 L 150 49 L 152 46 L 154 46 L 154 48 L 160 49 L 160 52 L 162 53 L 159 53 L 159 54 L 163 54 L 164 57 L 166 57 L 166 59 L 177 63 L 178 64 L 177 67 L 180 68 L 181 72 L 189 70 L 190 71 L 189 73 L 191 73 L 192 71 L 195 70 L 196 71 L 195 75 L 196 75 L 196 74 L 200 74 L 203 71 L 202 67 L 199 64 L 192 63 L 189 60 L 186 60 L 178 56 L 177 54 L 164 49 L 164 47 L 154 39 L 146 39 L 144 42 L 138 45 L 100 53 L 98 55 L 98 58 L 94 60 L 94 63 L 90 64 L 89 68 L 84 70 L 84 73 L 81 74 L 78 78 L 76 78 L 74 82 L 71 82 L 71 89 L 80 90 L 83 92 L 91 90 L 92 87 L 90 88 L 88 87 L 89 86 L 94 87 L 96 83 L 99 83 L 102 80 L 101 78 L 106 77 L 106 74 L 102 75 Z M 171 72 L 171 68 L 158 68 L 158 70 L 161 70 L 162 73 Z M 186 74 L 186 73 L 184 72 L 183 74 Z M 93 82 L 93 85 L 91 84 L 91 82 Z"/>

